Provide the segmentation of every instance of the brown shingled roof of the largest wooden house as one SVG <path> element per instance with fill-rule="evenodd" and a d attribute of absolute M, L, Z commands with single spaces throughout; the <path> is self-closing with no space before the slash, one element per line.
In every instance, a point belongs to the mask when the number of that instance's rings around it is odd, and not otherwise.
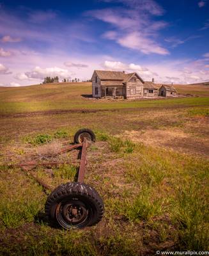
<path fill-rule="evenodd" d="M 143 79 L 141 79 L 141 77 L 135 72 L 129 73 L 129 74 L 126 74 L 125 72 L 121 72 L 121 71 L 107 71 L 107 70 L 95 70 L 95 72 L 97 73 L 97 76 L 103 81 L 115 80 L 115 81 L 121 81 L 122 83 L 127 83 L 128 80 L 135 75 L 141 80 L 142 83 L 144 83 Z"/>

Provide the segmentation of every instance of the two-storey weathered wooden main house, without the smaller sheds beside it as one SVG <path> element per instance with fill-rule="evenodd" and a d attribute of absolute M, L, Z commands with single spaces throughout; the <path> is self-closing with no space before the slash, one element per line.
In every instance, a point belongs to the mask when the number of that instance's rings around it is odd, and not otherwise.
<path fill-rule="evenodd" d="M 95 70 L 92 81 L 92 95 L 100 97 L 124 97 L 139 99 L 143 97 L 143 79 L 137 73 Z"/>

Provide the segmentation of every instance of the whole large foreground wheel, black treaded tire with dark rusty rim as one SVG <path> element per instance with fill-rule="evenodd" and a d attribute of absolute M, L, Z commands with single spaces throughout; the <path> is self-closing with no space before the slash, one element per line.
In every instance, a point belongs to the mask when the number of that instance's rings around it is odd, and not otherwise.
<path fill-rule="evenodd" d="M 104 204 L 97 191 L 83 183 L 61 184 L 48 196 L 45 214 L 51 223 L 65 229 L 95 225 L 104 214 Z"/>

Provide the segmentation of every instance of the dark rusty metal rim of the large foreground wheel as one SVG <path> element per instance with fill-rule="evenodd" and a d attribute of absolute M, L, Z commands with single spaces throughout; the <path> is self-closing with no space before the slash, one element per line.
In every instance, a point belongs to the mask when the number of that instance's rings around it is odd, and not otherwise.
<path fill-rule="evenodd" d="M 89 216 L 89 209 L 80 200 L 60 202 L 56 208 L 56 218 L 59 225 L 71 228 L 84 223 Z"/>

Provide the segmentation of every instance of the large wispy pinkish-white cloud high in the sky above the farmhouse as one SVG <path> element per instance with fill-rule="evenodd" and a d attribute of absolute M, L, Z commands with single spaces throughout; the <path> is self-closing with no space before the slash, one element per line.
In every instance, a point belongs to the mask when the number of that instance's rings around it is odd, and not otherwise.
<path fill-rule="evenodd" d="M 86 12 L 86 15 L 107 22 L 114 28 L 105 31 L 102 35 L 104 38 L 144 54 L 169 54 L 169 51 L 157 42 L 158 31 L 166 28 L 168 24 L 164 20 L 152 19 L 153 16 L 164 13 L 159 4 L 153 0 L 105 1 L 122 3 L 125 6 Z"/>

